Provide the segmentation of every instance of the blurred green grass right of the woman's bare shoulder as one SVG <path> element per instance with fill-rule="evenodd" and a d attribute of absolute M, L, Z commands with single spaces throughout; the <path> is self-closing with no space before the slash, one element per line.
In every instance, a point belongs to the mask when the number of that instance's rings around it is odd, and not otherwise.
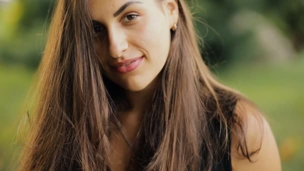
<path fill-rule="evenodd" d="M 303 170 L 304 58 L 284 64 L 239 65 L 217 75 L 264 111 L 280 149 L 283 170 Z"/>

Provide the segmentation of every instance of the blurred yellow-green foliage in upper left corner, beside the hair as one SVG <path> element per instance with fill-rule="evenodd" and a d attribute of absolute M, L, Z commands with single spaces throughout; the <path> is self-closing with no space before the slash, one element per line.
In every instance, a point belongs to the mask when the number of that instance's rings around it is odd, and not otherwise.
<path fill-rule="evenodd" d="M 0 8 L 0 61 L 36 68 L 45 43 L 53 0 L 14 0 Z"/>

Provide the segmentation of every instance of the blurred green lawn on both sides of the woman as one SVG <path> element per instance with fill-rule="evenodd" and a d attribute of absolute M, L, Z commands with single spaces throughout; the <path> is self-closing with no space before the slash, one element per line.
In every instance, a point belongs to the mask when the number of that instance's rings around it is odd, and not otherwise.
<path fill-rule="evenodd" d="M 21 66 L 0 65 L 0 170 L 10 170 L 13 152 L 18 154 L 14 136 L 32 76 L 32 71 Z M 232 66 L 218 76 L 256 102 L 265 112 L 278 146 L 291 148 L 282 161 L 283 170 L 302 170 L 304 148 L 295 144 L 304 144 L 304 58 L 281 65 Z"/>

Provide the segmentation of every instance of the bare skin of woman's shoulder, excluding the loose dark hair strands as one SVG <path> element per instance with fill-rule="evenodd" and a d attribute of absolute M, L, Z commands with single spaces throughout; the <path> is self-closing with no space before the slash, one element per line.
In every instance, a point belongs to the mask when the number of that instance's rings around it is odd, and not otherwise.
<path fill-rule="evenodd" d="M 248 151 L 254 151 L 260 147 L 258 153 L 251 156 L 250 162 L 248 159 L 240 155 L 240 151 L 237 150 L 237 138 L 232 134 L 231 136 L 231 164 L 233 170 L 247 170 L 247 171 L 278 171 L 281 170 L 281 162 L 277 149 L 277 145 L 269 126 L 269 123 L 264 119 L 257 119 L 256 115 L 261 115 L 259 111 L 252 108 L 251 105 L 244 101 L 238 101 L 236 108 L 242 106 L 244 111 L 236 114 L 246 115 L 246 139 Z M 262 125 L 262 132 L 261 126 Z M 261 146 L 259 146 L 261 145 Z"/>

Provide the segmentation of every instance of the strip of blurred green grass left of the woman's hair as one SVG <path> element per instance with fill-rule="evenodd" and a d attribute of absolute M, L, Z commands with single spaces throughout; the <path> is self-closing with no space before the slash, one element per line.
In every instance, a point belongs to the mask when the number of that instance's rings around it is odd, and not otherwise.
<path fill-rule="evenodd" d="M 21 66 L 0 65 L 0 170 L 8 170 L 13 154 L 17 154 L 18 119 L 32 75 Z"/>

